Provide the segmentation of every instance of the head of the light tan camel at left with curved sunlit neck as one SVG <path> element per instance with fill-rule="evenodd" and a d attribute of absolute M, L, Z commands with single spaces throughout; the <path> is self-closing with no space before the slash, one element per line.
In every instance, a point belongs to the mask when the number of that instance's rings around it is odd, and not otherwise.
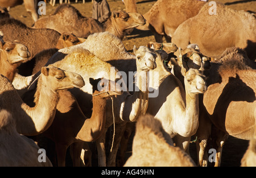
<path fill-rule="evenodd" d="M 51 65 L 42 67 L 41 78 L 42 84 L 50 87 L 53 91 L 65 90 L 73 87 L 81 88 L 85 85 L 81 75 Z"/>

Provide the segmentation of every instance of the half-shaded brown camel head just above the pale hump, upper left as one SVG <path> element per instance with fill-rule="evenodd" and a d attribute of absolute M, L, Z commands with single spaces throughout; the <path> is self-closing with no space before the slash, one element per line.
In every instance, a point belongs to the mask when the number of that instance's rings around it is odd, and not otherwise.
<path fill-rule="evenodd" d="M 84 43 L 85 39 L 76 37 L 72 33 L 62 33 L 60 35 L 59 41 L 56 45 L 57 49 L 66 48 L 69 46 L 74 46 L 77 44 Z"/>

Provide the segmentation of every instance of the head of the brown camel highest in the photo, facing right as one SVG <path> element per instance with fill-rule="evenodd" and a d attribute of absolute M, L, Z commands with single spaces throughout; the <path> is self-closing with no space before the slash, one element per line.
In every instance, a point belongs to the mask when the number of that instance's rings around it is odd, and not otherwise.
<path fill-rule="evenodd" d="M 126 13 L 123 11 L 113 11 L 112 19 L 114 20 L 115 24 L 118 24 L 118 27 L 122 28 L 122 31 L 143 26 L 146 23 L 146 19 L 144 19 L 141 14 Z"/>

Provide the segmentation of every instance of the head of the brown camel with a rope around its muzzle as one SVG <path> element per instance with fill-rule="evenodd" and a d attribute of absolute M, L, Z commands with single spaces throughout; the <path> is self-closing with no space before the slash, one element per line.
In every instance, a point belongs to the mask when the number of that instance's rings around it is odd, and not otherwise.
<path fill-rule="evenodd" d="M 100 94 L 101 98 L 108 98 L 109 96 L 122 95 L 121 86 L 105 78 L 93 79 L 89 78 L 90 84 L 93 86 L 93 94 Z"/>

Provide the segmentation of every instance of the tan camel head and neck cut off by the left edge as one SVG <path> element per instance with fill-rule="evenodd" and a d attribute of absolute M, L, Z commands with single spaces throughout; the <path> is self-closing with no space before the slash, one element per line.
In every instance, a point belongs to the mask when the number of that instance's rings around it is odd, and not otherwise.
<path fill-rule="evenodd" d="M 3 41 L 3 34 L 0 31 L 0 74 L 13 82 L 14 75 L 18 72 L 17 67 L 26 62 L 30 52 L 23 44 L 15 41 Z"/>

